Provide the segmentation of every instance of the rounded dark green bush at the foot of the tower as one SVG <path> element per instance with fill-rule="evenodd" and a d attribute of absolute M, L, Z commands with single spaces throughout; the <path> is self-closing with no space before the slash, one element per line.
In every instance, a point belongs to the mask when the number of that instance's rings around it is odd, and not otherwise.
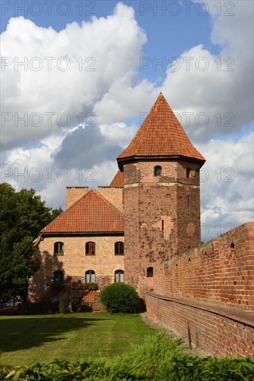
<path fill-rule="evenodd" d="M 100 292 L 100 300 L 113 314 L 135 312 L 139 296 L 135 288 L 126 283 L 107 285 Z"/>

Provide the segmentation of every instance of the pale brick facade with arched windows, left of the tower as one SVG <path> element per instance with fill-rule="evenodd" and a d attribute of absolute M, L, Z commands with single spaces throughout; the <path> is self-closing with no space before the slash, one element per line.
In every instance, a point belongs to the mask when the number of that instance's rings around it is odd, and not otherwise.
<path fill-rule="evenodd" d="M 54 255 L 54 243 L 64 243 L 64 255 Z M 96 255 L 85 255 L 85 243 L 96 243 Z M 28 298 L 31 302 L 41 301 L 53 283 L 53 273 L 64 272 L 65 281 L 85 282 L 85 272 L 93 270 L 96 282 L 102 288 L 114 283 L 114 272 L 125 269 L 125 256 L 115 256 L 115 242 L 124 242 L 123 236 L 75 236 L 46 237 L 39 243 L 36 255 L 41 260 L 41 267 L 30 278 Z"/>

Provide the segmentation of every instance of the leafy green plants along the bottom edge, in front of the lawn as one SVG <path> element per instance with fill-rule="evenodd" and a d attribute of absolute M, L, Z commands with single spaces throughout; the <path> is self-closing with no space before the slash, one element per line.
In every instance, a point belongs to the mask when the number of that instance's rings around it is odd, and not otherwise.
<path fill-rule="evenodd" d="M 0 366 L 1 380 L 45 381 L 253 381 L 254 357 L 201 358 L 188 355 L 181 339 L 156 333 L 136 344 L 131 353 L 111 360 L 88 360 L 71 364 L 55 360 L 30 368 L 11 370 Z"/>

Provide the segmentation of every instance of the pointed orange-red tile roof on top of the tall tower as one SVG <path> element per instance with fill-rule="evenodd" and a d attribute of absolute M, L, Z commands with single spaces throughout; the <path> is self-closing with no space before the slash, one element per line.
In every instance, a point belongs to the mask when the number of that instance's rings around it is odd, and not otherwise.
<path fill-rule="evenodd" d="M 183 156 L 206 161 L 190 142 L 162 94 L 159 94 L 134 139 L 118 156 L 118 163 L 127 157 L 143 156 Z"/>

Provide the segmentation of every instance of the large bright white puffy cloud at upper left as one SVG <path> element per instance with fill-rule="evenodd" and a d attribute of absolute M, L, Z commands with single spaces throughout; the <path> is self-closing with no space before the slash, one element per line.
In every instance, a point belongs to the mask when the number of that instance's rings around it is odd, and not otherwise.
<path fill-rule="evenodd" d="M 1 34 L 3 148 L 86 123 L 111 84 L 136 69 L 145 42 L 133 8 L 123 3 L 107 18 L 73 22 L 59 33 L 10 19 Z"/>

